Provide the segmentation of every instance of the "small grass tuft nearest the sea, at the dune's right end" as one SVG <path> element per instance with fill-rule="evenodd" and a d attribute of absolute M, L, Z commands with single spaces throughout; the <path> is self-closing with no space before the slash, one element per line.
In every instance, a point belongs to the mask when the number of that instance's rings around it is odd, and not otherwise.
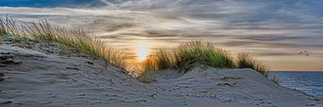
<path fill-rule="evenodd" d="M 270 70 L 270 67 L 252 58 L 249 53 L 238 54 L 237 67 L 239 69 L 249 68 L 252 70 L 256 70 L 265 77 L 268 77 L 268 71 Z"/>

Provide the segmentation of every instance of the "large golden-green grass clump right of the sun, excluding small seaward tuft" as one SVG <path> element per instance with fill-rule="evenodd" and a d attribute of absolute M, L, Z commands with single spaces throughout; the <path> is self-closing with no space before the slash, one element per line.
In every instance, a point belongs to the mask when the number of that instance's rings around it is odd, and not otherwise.
<path fill-rule="evenodd" d="M 199 41 L 179 45 L 171 52 L 160 50 L 147 60 L 153 63 L 153 70 L 178 69 L 182 73 L 200 64 L 215 68 L 234 68 L 229 52 Z M 151 63 L 146 63 L 145 66 L 152 66 Z"/>

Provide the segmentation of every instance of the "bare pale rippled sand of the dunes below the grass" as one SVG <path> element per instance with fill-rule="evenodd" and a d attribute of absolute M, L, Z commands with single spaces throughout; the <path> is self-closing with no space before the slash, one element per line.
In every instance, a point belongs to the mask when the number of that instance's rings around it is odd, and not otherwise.
<path fill-rule="evenodd" d="M 195 69 L 144 84 L 99 60 L 1 45 L 13 62 L 0 67 L 0 106 L 303 107 L 323 106 L 254 70 Z M 22 63 L 20 63 L 22 62 Z"/>

